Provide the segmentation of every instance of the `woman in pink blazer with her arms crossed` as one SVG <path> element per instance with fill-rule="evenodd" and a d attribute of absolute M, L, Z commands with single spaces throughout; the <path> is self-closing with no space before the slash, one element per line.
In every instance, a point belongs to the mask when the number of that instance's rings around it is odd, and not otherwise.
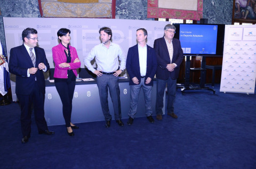
<path fill-rule="evenodd" d="M 60 44 L 52 48 L 55 64 L 54 83 L 62 102 L 62 112 L 65 119 L 67 133 L 74 136 L 73 129 L 78 126 L 71 123 L 72 99 L 76 85 L 76 69 L 81 66 L 76 48 L 69 45 L 70 30 L 61 28 L 57 32 Z"/>

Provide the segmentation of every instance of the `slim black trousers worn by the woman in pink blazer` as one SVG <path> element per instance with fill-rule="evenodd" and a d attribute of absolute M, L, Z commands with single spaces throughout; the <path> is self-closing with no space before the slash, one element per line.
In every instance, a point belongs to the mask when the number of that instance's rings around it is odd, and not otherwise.
<path fill-rule="evenodd" d="M 74 95 L 74 90 L 76 86 L 76 81 L 60 81 L 55 82 L 55 87 L 62 103 L 62 113 L 65 119 L 66 127 L 70 127 L 71 122 L 71 112 L 72 112 L 72 100 Z"/>

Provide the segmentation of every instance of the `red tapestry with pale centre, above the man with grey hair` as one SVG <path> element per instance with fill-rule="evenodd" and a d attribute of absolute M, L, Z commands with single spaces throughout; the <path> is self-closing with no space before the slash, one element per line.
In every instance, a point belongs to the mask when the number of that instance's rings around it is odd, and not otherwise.
<path fill-rule="evenodd" d="M 203 0 L 148 0 L 148 18 L 203 18 Z"/>

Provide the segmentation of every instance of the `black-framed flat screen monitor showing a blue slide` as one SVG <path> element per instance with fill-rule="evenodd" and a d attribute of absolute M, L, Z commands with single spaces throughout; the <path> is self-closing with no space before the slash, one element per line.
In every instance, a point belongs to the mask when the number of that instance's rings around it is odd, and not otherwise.
<path fill-rule="evenodd" d="M 173 24 L 184 55 L 222 56 L 225 24 Z"/>

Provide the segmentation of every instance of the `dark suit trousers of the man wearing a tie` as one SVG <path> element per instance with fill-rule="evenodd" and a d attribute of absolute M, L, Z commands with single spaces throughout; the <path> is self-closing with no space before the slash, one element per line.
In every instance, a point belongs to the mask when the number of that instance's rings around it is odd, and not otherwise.
<path fill-rule="evenodd" d="M 48 130 L 47 123 L 44 118 L 44 98 L 43 94 L 35 81 L 33 91 L 29 95 L 19 95 L 17 97 L 21 108 L 21 131 L 23 136 L 30 136 L 31 132 L 31 106 L 34 108 L 35 121 L 38 132 Z"/>

